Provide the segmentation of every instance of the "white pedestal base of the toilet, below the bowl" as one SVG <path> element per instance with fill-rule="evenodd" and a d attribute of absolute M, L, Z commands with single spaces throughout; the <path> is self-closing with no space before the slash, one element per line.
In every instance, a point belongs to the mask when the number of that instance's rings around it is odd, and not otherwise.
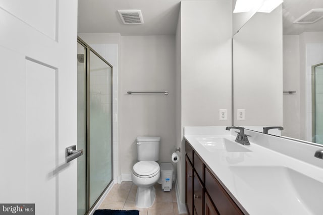
<path fill-rule="evenodd" d="M 138 187 L 136 194 L 136 206 L 139 208 L 147 208 L 153 205 L 156 198 L 154 186 Z"/>

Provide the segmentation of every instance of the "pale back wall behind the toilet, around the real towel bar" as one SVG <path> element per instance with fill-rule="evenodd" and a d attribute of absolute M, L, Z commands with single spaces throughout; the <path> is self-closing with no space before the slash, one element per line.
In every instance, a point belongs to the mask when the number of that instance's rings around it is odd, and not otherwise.
<path fill-rule="evenodd" d="M 120 85 L 121 174 L 129 180 L 137 136 L 161 137 L 159 162 L 171 162 L 175 151 L 175 36 L 122 36 Z"/>

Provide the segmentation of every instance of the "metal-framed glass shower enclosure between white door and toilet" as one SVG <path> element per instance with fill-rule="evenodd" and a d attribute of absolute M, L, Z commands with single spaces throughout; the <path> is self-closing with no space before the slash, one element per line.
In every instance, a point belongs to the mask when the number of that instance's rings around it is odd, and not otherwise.
<path fill-rule="evenodd" d="M 113 179 L 112 65 L 78 38 L 78 215 L 95 205 Z"/>

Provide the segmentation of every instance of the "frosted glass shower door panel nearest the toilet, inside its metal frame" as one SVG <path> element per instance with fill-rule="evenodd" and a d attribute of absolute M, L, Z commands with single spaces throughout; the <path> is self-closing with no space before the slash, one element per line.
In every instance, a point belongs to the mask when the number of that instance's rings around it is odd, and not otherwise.
<path fill-rule="evenodd" d="M 90 207 L 112 181 L 112 67 L 90 50 Z"/>

